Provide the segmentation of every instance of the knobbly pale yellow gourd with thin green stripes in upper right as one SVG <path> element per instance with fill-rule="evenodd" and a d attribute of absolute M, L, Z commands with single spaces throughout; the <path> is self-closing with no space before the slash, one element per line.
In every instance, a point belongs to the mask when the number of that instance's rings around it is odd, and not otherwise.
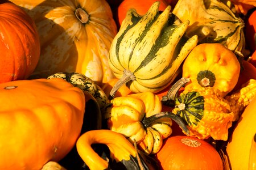
<path fill-rule="evenodd" d="M 199 44 L 217 42 L 232 51 L 245 48 L 243 20 L 217 0 L 180 0 L 172 11 L 181 21 L 189 20 L 186 35 L 199 37 Z"/>

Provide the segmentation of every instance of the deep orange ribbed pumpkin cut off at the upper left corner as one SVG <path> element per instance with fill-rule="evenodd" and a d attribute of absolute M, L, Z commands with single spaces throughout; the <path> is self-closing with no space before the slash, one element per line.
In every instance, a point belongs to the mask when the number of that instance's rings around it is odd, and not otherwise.
<path fill-rule="evenodd" d="M 14 3 L 2 1 L 0 30 L 0 83 L 28 78 L 40 56 L 34 20 Z"/>

